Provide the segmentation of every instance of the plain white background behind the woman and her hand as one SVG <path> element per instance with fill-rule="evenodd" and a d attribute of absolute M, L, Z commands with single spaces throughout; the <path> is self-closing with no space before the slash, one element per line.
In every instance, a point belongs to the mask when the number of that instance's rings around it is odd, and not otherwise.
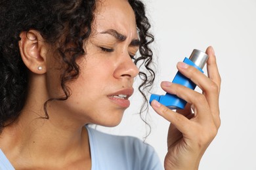
<path fill-rule="evenodd" d="M 144 0 L 152 22 L 157 80 L 152 93 L 164 94 L 162 80 L 173 80 L 178 61 L 194 48 L 215 49 L 221 87 L 221 128 L 205 152 L 200 169 L 256 169 L 256 0 Z M 204 69 L 205 71 L 205 69 Z M 98 127 L 117 135 L 142 139 L 146 126 L 138 114 L 142 98 L 135 92 L 121 124 Z M 168 122 L 152 109 L 152 127 L 146 142 L 154 146 L 161 161 L 166 153 Z"/>

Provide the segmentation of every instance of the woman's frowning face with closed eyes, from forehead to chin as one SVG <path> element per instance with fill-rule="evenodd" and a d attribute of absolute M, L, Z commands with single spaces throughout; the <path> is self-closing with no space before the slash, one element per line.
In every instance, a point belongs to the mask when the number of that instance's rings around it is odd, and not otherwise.
<path fill-rule="evenodd" d="M 135 14 L 127 0 L 98 3 L 85 49 L 87 54 L 77 60 L 79 77 L 68 83 L 72 95 L 67 101 L 49 103 L 49 109 L 83 123 L 116 126 L 129 107 L 133 79 L 139 73 L 131 59 L 139 40 Z"/>

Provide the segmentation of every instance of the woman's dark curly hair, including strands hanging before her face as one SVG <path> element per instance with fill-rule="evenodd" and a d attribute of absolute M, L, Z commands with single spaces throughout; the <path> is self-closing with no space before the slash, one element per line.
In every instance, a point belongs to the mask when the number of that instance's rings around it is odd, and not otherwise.
<path fill-rule="evenodd" d="M 154 37 L 148 31 L 150 23 L 143 3 L 138 0 L 129 0 L 129 3 L 135 12 L 140 39 L 140 56 L 135 59 L 135 64 L 146 69 L 139 73 L 142 79 L 139 91 L 145 99 L 144 108 L 145 105 L 148 107 L 144 90 L 152 85 L 155 78 L 150 68 L 152 50 L 149 47 Z M 86 54 L 83 45 L 91 35 L 95 8 L 95 0 L 0 1 L 0 133 L 18 118 L 26 101 L 28 69 L 20 56 L 20 33 L 31 29 L 39 31 L 46 42 L 56 47 L 63 63 L 60 86 L 64 97 L 45 101 L 45 118 L 49 118 L 47 103 L 68 99 L 71 92 L 66 83 L 79 76 L 79 65 L 75 61 Z"/>

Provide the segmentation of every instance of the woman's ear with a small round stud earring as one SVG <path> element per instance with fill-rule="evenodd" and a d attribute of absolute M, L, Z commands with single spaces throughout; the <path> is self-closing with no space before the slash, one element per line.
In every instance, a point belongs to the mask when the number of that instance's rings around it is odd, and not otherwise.
<path fill-rule="evenodd" d="M 36 74 L 46 73 L 47 43 L 38 31 L 20 33 L 20 55 L 25 65 Z"/>

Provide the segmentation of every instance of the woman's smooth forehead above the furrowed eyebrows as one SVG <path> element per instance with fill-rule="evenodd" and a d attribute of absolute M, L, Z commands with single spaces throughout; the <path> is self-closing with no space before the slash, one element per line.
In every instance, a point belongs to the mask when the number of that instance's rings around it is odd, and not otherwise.
<path fill-rule="evenodd" d="M 137 37 L 135 14 L 127 0 L 100 0 L 96 5 L 96 32 L 115 29 L 127 37 Z"/>

